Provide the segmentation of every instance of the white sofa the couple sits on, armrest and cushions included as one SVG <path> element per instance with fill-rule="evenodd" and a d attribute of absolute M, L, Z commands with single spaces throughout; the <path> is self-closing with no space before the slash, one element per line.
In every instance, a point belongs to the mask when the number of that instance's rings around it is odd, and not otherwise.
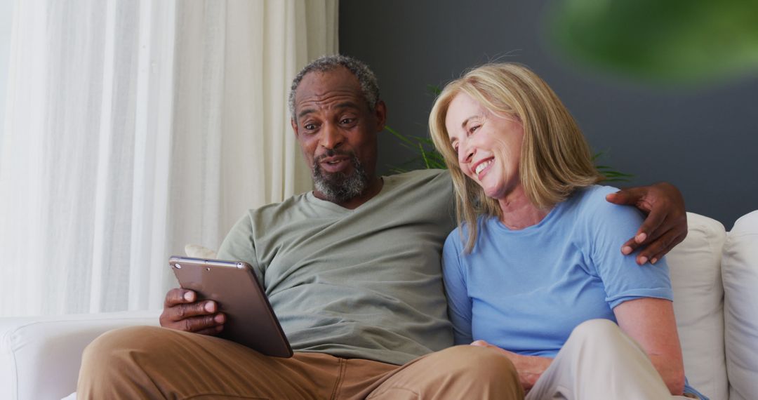
<path fill-rule="evenodd" d="M 669 254 L 687 376 L 713 400 L 758 398 L 758 211 L 731 232 L 688 213 Z M 74 392 L 83 348 L 107 330 L 157 325 L 160 311 L 0 318 L 0 400 Z"/>

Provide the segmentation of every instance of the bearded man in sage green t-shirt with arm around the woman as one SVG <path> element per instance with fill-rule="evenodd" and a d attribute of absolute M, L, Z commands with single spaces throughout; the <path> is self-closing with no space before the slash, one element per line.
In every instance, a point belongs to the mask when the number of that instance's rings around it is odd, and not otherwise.
<path fill-rule="evenodd" d="M 218 305 L 172 289 L 162 328 L 116 330 L 89 345 L 79 395 L 523 398 L 506 357 L 450 347 L 440 252 L 455 226 L 452 183 L 440 170 L 377 177 L 387 109 L 374 73 L 353 58 L 319 58 L 293 81 L 290 114 L 315 189 L 248 211 L 218 257 L 252 265 L 295 355 L 268 357 L 218 339 Z M 652 242 L 638 260 L 659 258 L 684 237 L 672 186 L 612 200 L 653 205 L 641 227 L 650 238 L 619 243 L 631 252 Z"/>

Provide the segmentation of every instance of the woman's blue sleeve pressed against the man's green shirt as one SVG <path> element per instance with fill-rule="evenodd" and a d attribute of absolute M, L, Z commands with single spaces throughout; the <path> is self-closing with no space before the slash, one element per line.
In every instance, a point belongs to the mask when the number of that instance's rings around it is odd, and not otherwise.
<path fill-rule="evenodd" d="M 471 343 L 471 298 L 466 289 L 464 265 L 461 262 L 462 243 L 459 229 L 445 240 L 442 251 L 442 271 L 447 296 L 447 314 L 453 323 L 456 345 Z"/>

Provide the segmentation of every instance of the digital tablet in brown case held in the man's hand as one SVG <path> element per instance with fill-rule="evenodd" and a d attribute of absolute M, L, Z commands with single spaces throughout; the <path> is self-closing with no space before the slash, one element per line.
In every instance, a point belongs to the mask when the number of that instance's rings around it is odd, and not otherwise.
<path fill-rule="evenodd" d="M 175 255 L 168 264 L 183 289 L 195 291 L 199 300 L 218 303 L 218 311 L 227 317 L 219 337 L 264 355 L 292 357 L 290 342 L 249 264 Z"/>

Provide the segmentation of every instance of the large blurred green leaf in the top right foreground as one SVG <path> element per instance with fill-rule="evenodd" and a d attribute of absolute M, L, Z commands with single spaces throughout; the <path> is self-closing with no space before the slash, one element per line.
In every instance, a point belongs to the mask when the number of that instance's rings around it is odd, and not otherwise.
<path fill-rule="evenodd" d="M 758 74 L 758 0 L 562 0 L 549 37 L 627 77 L 691 85 Z"/>

